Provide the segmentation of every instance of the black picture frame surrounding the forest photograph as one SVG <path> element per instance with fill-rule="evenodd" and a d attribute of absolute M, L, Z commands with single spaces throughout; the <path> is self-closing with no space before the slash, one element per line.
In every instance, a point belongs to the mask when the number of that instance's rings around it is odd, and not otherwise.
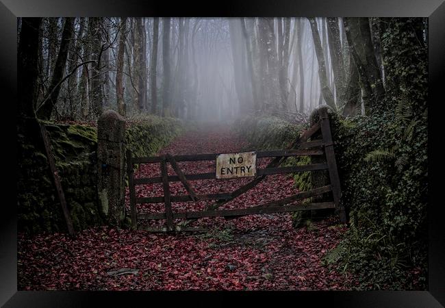
<path fill-rule="evenodd" d="M 378 16 L 429 17 L 429 279 L 428 291 L 423 292 L 17 292 L 16 255 L 16 182 L 6 183 L 5 193 L 11 202 L 3 198 L 0 215 L 0 305 L 3 307 L 131 307 L 133 300 L 153 305 L 153 298 L 168 302 L 181 297 L 183 303 L 193 306 L 218 303 L 233 305 L 238 300 L 290 300 L 298 305 L 301 300 L 311 306 L 324 303 L 329 307 L 443 307 L 445 305 L 445 231 L 443 208 L 440 201 L 441 172 L 444 155 L 440 151 L 442 133 L 440 105 L 444 104 L 442 88 L 445 68 L 445 3 L 442 0 L 334 0 L 334 1 L 217 1 L 211 3 L 170 3 L 167 1 L 136 0 L 1 0 L 0 35 L 1 88 L 10 99 L 8 114 L 15 114 L 16 101 L 16 17 L 32 16 Z M 2 107 L 3 108 L 3 107 Z M 14 118 L 12 118 L 13 124 Z M 16 131 L 2 121 L 3 132 L 9 132 L 11 145 L 5 162 L 14 162 Z M 443 130 L 443 129 L 442 129 Z M 436 133 L 435 133 L 436 132 Z M 5 136 L 6 138 L 6 136 Z M 433 147 L 435 148 L 433 150 Z M 5 146 L 6 148 L 6 146 Z M 8 163 L 9 164 L 9 163 Z M 7 177 L 8 180 L 10 177 Z M 12 177 L 13 178 L 13 177 Z M 9 185 L 9 186 L 8 186 Z M 187 302 L 189 296 L 199 300 Z M 182 299 L 183 298 L 183 299 Z M 156 304 L 160 305 L 160 304 Z M 289 304 L 285 304 L 289 305 Z"/>

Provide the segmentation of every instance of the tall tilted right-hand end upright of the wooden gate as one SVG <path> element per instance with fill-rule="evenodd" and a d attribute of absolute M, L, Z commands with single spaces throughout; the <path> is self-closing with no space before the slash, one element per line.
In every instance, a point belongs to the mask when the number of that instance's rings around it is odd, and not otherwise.
<path fill-rule="evenodd" d="M 335 209 L 338 211 L 341 222 L 346 222 L 346 212 L 344 207 L 340 204 L 340 198 L 342 197 L 342 190 L 340 189 L 340 177 L 338 176 L 337 162 L 335 161 L 335 153 L 333 150 L 333 142 L 331 135 L 331 125 L 329 124 L 329 116 L 326 108 L 321 108 L 318 111 L 320 116 L 320 125 L 322 138 L 325 145 L 325 155 L 327 166 L 329 166 L 329 179 L 331 180 L 333 199 L 335 203 Z"/>

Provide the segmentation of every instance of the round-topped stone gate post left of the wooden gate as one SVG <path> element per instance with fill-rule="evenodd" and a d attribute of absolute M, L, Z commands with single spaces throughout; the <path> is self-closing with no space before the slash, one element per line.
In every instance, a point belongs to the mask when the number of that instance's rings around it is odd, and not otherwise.
<path fill-rule="evenodd" d="M 125 214 L 125 120 L 113 110 L 97 121 L 97 196 L 107 224 L 120 227 Z"/>

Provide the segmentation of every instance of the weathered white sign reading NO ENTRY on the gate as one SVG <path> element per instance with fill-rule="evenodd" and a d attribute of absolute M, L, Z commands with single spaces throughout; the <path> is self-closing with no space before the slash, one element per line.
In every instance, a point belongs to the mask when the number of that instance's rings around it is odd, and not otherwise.
<path fill-rule="evenodd" d="M 216 156 L 216 179 L 255 177 L 256 163 L 255 152 L 220 154 Z"/>

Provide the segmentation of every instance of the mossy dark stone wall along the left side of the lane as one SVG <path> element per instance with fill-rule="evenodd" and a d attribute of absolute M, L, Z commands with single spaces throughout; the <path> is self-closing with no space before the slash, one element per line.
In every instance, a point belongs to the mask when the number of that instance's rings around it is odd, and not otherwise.
<path fill-rule="evenodd" d="M 75 229 L 103 224 L 106 217 L 97 202 L 97 129 L 44 124 Z M 146 116 L 127 123 L 125 143 L 135 157 L 153 155 L 182 131 L 180 120 Z M 18 229 L 27 233 L 66 231 L 42 141 L 35 139 L 18 134 Z"/>

